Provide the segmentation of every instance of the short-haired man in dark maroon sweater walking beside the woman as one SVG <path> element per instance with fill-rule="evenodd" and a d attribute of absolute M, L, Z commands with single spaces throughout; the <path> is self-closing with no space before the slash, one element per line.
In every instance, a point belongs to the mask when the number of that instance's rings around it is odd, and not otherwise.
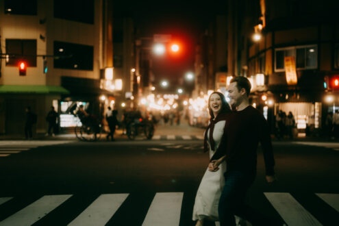
<path fill-rule="evenodd" d="M 244 201 L 253 184 L 257 166 L 258 143 L 262 145 L 266 165 L 266 180 L 275 181 L 275 160 L 268 123 L 264 116 L 249 105 L 251 83 L 246 77 L 231 79 L 227 91 L 234 112 L 227 115 L 223 138 L 211 158 L 210 171 L 218 168 L 219 159 L 225 156 L 227 169 L 225 185 L 218 204 L 221 226 L 236 225 L 234 216 L 240 216 L 255 225 L 277 225 L 271 219 L 252 209 Z M 280 224 L 280 222 L 279 222 Z M 281 223 L 282 225 L 282 223 Z"/>

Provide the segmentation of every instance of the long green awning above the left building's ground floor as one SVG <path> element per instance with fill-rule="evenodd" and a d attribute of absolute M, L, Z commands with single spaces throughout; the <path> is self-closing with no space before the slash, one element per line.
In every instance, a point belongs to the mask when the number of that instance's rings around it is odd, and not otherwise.
<path fill-rule="evenodd" d="M 0 93 L 29 93 L 29 94 L 60 94 L 68 95 L 70 92 L 62 86 L 0 86 Z"/>

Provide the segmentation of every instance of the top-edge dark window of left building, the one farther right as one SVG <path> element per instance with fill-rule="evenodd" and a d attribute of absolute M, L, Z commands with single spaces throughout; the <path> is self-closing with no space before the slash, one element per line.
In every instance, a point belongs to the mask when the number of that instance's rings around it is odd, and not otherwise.
<path fill-rule="evenodd" d="M 94 0 L 54 0 L 54 17 L 94 23 Z"/>

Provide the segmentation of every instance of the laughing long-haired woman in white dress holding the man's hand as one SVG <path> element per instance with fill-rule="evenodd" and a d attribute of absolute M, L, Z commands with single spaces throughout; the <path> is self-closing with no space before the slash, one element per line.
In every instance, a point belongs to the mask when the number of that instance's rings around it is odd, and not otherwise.
<path fill-rule="evenodd" d="M 225 128 L 225 118 L 231 112 L 229 104 L 221 92 L 213 92 L 208 99 L 210 124 L 205 130 L 204 151 L 209 151 L 210 158 L 218 148 Z M 210 164 L 201 179 L 197 196 L 195 197 L 192 220 L 201 226 L 205 221 L 218 221 L 218 201 L 223 190 L 223 173 L 226 171 L 225 156 L 218 159 L 218 167 L 212 172 Z"/>

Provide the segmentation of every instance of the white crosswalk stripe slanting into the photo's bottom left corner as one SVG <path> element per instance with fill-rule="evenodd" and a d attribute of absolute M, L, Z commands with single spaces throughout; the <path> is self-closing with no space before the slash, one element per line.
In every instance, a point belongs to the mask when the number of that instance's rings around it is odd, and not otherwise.
<path fill-rule="evenodd" d="M 44 196 L 34 203 L 27 205 L 27 207 L 23 208 L 23 210 L 16 212 L 8 218 L 5 218 L 5 220 L 0 222 L 0 225 L 32 225 L 71 196 L 71 194 Z"/>

